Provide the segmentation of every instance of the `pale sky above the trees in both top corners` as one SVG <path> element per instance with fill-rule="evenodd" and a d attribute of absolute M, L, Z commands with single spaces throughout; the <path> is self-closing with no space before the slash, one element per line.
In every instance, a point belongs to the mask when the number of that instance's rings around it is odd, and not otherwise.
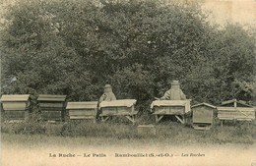
<path fill-rule="evenodd" d="M 17 0 L 0 0 L 0 23 L 4 23 L 1 14 L 5 6 Z M 171 1 L 171 0 L 170 0 Z M 212 23 L 224 26 L 226 23 L 239 23 L 256 28 L 256 0 L 183 0 L 199 2 L 203 11 L 210 14 Z"/>

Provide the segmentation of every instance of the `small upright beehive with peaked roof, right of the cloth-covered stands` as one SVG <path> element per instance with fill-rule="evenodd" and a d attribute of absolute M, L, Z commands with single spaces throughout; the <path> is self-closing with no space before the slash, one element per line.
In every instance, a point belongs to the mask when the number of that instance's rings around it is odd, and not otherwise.
<path fill-rule="evenodd" d="M 193 128 L 196 130 L 209 130 L 214 124 L 214 111 L 216 107 L 208 103 L 200 103 L 191 107 Z"/>

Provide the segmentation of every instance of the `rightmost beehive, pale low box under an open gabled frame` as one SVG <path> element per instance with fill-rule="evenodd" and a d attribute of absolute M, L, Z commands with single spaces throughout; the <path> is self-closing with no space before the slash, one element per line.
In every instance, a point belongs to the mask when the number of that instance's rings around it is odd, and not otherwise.
<path fill-rule="evenodd" d="M 218 118 L 221 121 L 252 121 L 255 119 L 255 109 L 247 105 L 245 101 L 237 101 L 236 99 L 224 101 L 217 109 Z"/>

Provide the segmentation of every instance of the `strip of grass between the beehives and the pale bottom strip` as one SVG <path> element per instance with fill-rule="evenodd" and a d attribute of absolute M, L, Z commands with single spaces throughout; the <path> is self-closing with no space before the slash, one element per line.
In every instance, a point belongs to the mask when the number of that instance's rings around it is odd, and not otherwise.
<path fill-rule="evenodd" d="M 71 122 L 64 124 L 48 123 L 19 123 L 2 124 L 1 132 L 5 134 L 19 135 L 43 135 L 50 137 L 64 138 L 103 138 L 111 140 L 147 140 L 147 141 L 167 141 L 168 143 L 204 143 L 204 144 L 224 144 L 224 143 L 245 143 L 252 144 L 256 139 L 256 123 L 229 123 L 224 127 L 217 124 L 210 131 L 196 131 L 190 126 L 183 126 L 175 122 L 163 122 L 156 126 L 157 135 L 150 133 L 139 135 L 137 126 L 131 124 L 93 122 Z"/>

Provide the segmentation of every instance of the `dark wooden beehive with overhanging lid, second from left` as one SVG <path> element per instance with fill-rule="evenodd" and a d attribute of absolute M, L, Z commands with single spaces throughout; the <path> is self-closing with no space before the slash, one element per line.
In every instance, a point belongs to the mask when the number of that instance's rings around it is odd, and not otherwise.
<path fill-rule="evenodd" d="M 37 101 L 42 120 L 65 121 L 66 95 L 39 94 Z"/>

